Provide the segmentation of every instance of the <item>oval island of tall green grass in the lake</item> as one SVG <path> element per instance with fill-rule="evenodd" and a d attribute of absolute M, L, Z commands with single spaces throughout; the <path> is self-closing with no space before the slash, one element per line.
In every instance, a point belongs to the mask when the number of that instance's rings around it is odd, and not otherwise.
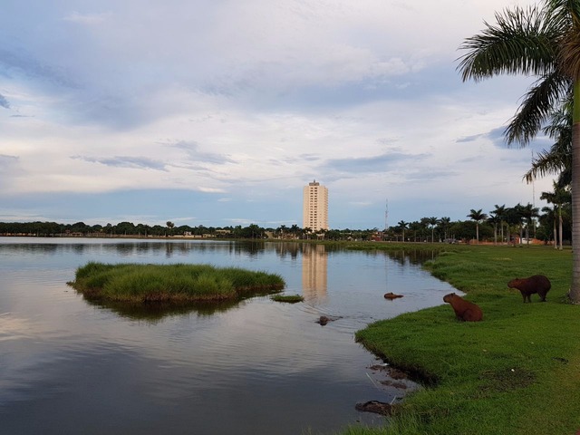
<path fill-rule="evenodd" d="M 275 274 L 209 265 L 110 265 L 91 262 L 69 283 L 87 298 L 116 302 L 198 302 L 277 292 L 284 279 Z"/>

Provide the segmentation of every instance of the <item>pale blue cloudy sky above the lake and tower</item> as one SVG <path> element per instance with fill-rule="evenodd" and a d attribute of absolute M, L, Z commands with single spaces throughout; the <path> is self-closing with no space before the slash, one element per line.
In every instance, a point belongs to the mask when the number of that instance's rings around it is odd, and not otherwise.
<path fill-rule="evenodd" d="M 503 131 L 534 81 L 462 82 L 506 0 L 3 0 L 0 221 L 303 226 L 546 206 Z"/>

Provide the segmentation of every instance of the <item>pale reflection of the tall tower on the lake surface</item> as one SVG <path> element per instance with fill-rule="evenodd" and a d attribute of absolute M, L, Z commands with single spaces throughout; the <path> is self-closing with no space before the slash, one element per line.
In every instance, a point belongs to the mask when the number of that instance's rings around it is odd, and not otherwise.
<path fill-rule="evenodd" d="M 304 300 L 322 302 L 328 293 L 328 254 L 324 245 L 303 245 L 302 291 Z"/>

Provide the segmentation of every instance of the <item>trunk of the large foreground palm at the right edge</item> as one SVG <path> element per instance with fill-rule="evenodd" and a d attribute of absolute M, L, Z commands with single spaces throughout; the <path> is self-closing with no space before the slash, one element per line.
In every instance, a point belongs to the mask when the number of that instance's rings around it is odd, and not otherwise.
<path fill-rule="evenodd" d="M 572 124 L 572 285 L 570 300 L 580 303 L 580 78 L 574 82 Z"/>

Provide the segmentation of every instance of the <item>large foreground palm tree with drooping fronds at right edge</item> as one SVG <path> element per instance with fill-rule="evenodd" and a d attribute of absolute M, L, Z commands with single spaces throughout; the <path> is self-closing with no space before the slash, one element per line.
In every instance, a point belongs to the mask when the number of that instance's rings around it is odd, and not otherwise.
<path fill-rule="evenodd" d="M 551 113 L 573 101 L 572 119 L 572 247 L 570 299 L 580 303 L 580 2 L 543 0 L 542 6 L 515 7 L 496 14 L 497 25 L 461 44 L 463 81 L 498 74 L 534 75 L 505 131 L 507 143 L 526 146 Z"/>

